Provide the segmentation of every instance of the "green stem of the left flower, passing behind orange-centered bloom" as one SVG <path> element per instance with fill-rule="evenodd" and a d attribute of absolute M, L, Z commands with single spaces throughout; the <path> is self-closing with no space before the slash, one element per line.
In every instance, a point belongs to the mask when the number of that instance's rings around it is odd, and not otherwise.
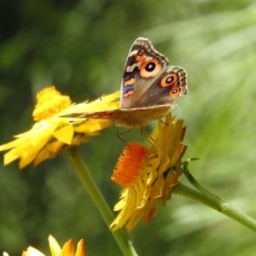
<path fill-rule="evenodd" d="M 92 201 L 94 201 L 96 207 L 102 214 L 102 218 L 105 220 L 106 224 L 109 225 L 113 222 L 113 212 L 109 209 L 107 202 L 104 200 L 101 192 L 96 186 L 93 178 L 90 175 L 90 172 L 85 166 L 84 161 L 79 155 L 78 148 L 69 148 L 63 150 L 67 155 L 68 159 L 71 161 L 74 169 L 82 180 L 85 189 L 89 193 Z M 115 241 L 117 241 L 119 248 L 127 256 L 137 255 L 134 247 L 132 246 L 131 241 L 123 230 L 117 230 L 112 233 Z"/>

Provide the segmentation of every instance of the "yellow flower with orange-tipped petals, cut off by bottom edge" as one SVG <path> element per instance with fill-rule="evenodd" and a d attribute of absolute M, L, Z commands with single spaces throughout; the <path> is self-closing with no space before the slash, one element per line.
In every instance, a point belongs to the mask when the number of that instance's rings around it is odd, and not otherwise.
<path fill-rule="evenodd" d="M 72 240 L 67 241 L 61 249 L 55 238 L 49 235 L 49 248 L 52 256 L 85 256 L 83 239 L 79 241 L 75 253 Z M 44 254 L 34 247 L 28 247 L 27 250 L 22 253 L 22 256 L 44 256 Z"/>

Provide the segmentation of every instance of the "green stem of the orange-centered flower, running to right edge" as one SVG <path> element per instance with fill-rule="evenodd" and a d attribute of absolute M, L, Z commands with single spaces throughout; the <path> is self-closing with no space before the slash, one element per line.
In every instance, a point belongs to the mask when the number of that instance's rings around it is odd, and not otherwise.
<path fill-rule="evenodd" d="M 236 211 L 232 207 L 230 207 L 224 200 L 220 199 L 216 195 L 212 195 L 215 200 L 212 200 L 209 196 L 202 194 L 201 192 L 196 191 L 195 189 L 190 189 L 183 183 L 177 183 L 176 186 L 172 188 L 172 193 L 176 195 L 182 195 L 191 200 L 197 201 L 207 207 L 211 207 L 212 209 L 221 212 L 222 214 L 235 219 L 240 224 L 243 224 L 250 230 L 256 232 L 256 221 L 247 216 L 246 214 Z M 219 200 L 217 201 L 216 198 Z"/>

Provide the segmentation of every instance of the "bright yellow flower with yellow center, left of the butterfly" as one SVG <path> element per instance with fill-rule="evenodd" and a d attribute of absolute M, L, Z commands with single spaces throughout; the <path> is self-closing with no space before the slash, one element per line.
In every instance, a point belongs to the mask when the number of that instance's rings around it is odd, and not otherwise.
<path fill-rule="evenodd" d="M 90 136 L 108 127 L 105 119 L 78 119 L 61 117 L 69 113 L 86 113 L 119 108 L 119 91 L 94 102 L 71 104 L 69 96 L 62 96 L 55 87 L 45 88 L 38 93 L 38 103 L 33 111 L 37 121 L 30 131 L 17 135 L 11 143 L 0 146 L 4 154 L 4 165 L 20 158 L 20 169 L 34 160 L 37 166 L 46 159 L 54 158 L 61 148 L 87 143 Z"/>

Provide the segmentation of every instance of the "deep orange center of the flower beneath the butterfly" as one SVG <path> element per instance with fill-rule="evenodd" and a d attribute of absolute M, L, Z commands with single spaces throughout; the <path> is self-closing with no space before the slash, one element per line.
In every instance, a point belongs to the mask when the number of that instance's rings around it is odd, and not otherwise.
<path fill-rule="evenodd" d="M 122 187 L 130 186 L 140 176 L 147 155 L 147 148 L 143 145 L 134 142 L 129 143 L 119 157 L 111 179 Z"/>

